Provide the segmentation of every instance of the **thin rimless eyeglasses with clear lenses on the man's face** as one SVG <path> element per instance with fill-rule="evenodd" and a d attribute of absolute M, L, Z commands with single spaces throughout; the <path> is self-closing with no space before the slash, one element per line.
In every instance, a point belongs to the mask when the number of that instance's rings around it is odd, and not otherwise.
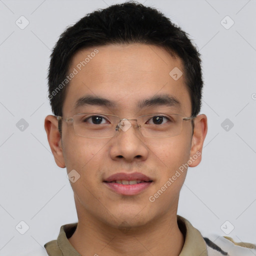
<path fill-rule="evenodd" d="M 183 121 L 194 117 L 182 117 L 175 113 L 145 114 L 134 119 L 121 119 L 117 115 L 105 113 L 77 113 L 68 118 L 56 116 L 58 121 L 71 122 L 75 134 L 87 138 L 113 137 L 119 129 L 127 131 L 131 127 L 130 121 L 136 122 L 136 127 L 144 137 L 172 137 L 180 134 Z"/>

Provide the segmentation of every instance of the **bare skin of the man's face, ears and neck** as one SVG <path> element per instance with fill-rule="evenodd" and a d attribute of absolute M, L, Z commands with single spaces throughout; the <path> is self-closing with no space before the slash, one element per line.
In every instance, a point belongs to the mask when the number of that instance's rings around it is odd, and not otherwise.
<path fill-rule="evenodd" d="M 115 101 L 116 107 L 93 106 L 121 118 L 135 118 L 153 112 L 191 115 L 191 100 L 184 75 L 172 79 L 169 72 L 183 67 L 178 57 L 164 49 L 145 44 L 116 44 L 96 47 L 98 53 L 68 84 L 63 116 L 71 117 L 75 101 L 85 95 L 97 95 Z M 78 51 L 72 58 L 70 72 L 93 51 Z M 184 72 L 183 72 L 184 73 Z M 137 102 L 155 94 L 175 96 L 180 107 L 154 106 L 139 110 Z M 56 164 L 67 173 L 75 169 L 80 178 L 70 182 L 74 192 L 78 225 L 68 239 L 82 255 L 178 255 L 184 244 L 177 220 L 179 192 L 186 170 L 157 198 L 149 201 L 183 163 L 202 151 L 207 132 L 204 114 L 184 121 L 180 134 L 167 138 L 145 138 L 135 122 L 127 131 L 111 138 L 85 138 L 74 133 L 72 125 L 62 123 L 62 137 L 53 115 L 45 118 L 45 130 Z M 189 166 L 199 164 L 201 155 Z M 120 195 L 102 180 L 116 172 L 142 172 L 152 184 L 136 195 Z"/>

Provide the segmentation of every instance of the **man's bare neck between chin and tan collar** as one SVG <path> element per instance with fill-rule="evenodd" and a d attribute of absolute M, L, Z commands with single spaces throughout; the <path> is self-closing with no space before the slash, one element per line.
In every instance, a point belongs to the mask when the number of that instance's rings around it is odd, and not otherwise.
<path fill-rule="evenodd" d="M 178 256 L 184 244 L 176 211 L 153 219 L 146 225 L 124 229 L 85 214 L 78 217 L 76 230 L 68 240 L 83 256 Z"/>

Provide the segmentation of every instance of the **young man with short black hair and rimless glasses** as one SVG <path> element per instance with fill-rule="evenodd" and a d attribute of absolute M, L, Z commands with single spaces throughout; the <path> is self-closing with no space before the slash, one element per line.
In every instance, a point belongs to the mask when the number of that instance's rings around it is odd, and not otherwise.
<path fill-rule="evenodd" d="M 135 2 L 94 11 L 61 34 L 48 73 L 54 115 L 44 127 L 56 164 L 67 169 L 78 222 L 61 226 L 44 245 L 48 255 L 243 249 L 223 237 L 218 246 L 177 215 L 207 132 L 200 63 L 184 31 Z"/>

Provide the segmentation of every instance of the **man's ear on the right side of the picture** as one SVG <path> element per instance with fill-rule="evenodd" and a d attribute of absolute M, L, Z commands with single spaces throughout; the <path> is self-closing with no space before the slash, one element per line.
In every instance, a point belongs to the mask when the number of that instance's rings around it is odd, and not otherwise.
<path fill-rule="evenodd" d="M 199 114 L 194 118 L 194 131 L 191 141 L 189 167 L 197 166 L 201 161 L 202 145 L 207 133 L 207 117 Z"/>

